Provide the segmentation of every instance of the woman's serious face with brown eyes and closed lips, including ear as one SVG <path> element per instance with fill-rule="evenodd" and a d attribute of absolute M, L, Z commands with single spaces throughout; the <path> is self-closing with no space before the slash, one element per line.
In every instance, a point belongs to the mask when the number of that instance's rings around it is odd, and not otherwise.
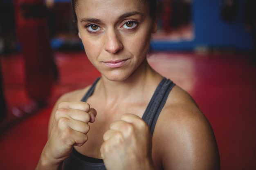
<path fill-rule="evenodd" d="M 151 33 L 157 30 L 143 0 L 78 0 L 79 37 L 102 76 L 128 78 L 146 60 Z"/>

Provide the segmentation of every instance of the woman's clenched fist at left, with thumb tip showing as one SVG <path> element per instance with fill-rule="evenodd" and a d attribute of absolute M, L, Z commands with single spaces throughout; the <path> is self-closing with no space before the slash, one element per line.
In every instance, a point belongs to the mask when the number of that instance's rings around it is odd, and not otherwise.
<path fill-rule="evenodd" d="M 74 145 L 82 146 L 88 139 L 89 122 L 94 122 L 97 112 L 85 102 L 61 103 L 58 105 L 44 152 L 49 159 L 67 158 Z"/>

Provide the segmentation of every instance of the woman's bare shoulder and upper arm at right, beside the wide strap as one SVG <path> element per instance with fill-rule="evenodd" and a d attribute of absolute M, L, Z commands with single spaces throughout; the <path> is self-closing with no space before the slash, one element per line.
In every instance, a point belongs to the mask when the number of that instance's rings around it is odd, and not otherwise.
<path fill-rule="evenodd" d="M 209 121 L 193 98 L 178 86 L 173 87 L 159 115 L 153 147 L 161 157 L 163 169 L 220 169 L 218 147 Z"/>

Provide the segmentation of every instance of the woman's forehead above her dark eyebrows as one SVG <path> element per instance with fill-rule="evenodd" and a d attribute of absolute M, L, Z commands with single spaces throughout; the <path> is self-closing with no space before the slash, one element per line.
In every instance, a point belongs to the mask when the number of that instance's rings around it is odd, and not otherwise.
<path fill-rule="evenodd" d="M 148 3 L 144 0 L 77 0 L 77 19 L 92 18 L 113 18 L 127 12 L 139 12 L 149 15 Z"/>

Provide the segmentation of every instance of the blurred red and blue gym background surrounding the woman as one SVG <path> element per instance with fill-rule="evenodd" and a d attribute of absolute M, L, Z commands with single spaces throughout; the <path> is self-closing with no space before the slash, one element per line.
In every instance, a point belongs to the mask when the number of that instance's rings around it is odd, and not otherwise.
<path fill-rule="evenodd" d="M 256 169 L 256 1 L 159 0 L 150 65 L 209 119 L 222 170 Z M 0 169 L 32 170 L 52 107 L 99 72 L 70 0 L 0 0 Z"/>

